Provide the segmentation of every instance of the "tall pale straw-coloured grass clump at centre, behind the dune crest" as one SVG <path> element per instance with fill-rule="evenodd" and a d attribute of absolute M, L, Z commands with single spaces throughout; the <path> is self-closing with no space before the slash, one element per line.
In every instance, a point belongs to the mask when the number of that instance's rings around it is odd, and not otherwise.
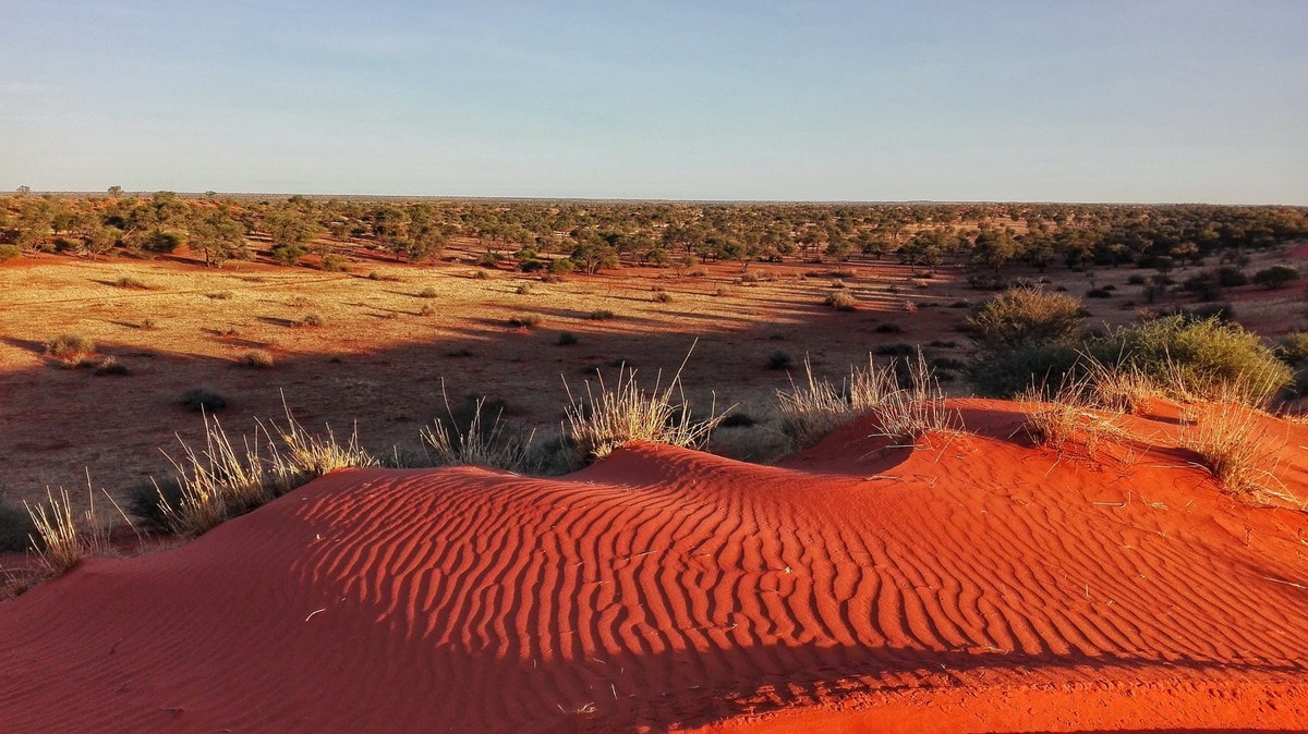
<path fill-rule="evenodd" d="M 636 370 L 627 368 L 620 368 L 617 384 L 612 388 L 604 384 L 603 376 L 598 379 L 598 392 L 587 381 L 585 400 L 581 396 L 574 397 L 568 389 L 570 405 L 564 409 L 566 415 L 564 435 L 572 449 L 569 462 L 581 466 L 633 441 L 684 448 L 701 447 L 727 411 L 715 413 L 715 409 L 710 407 L 706 419 L 693 418 L 691 405 L 681 391 L 684 367 L 683 362 L 666 388 L 659 387 L 661 379 L 655 380 L 653 392 L 641 389 L 636 381 Z M 568 388 L 566 381 L 564 387 Z"/>

